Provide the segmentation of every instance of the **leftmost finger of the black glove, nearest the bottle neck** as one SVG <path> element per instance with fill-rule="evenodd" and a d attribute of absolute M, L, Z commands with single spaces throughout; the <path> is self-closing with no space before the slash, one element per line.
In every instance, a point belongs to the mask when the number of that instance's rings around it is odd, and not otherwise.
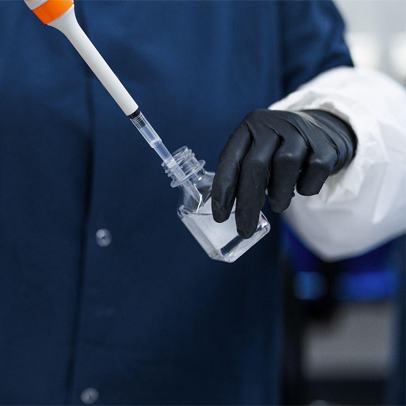
<path fill-rule="evenodd" d="M 212 212 L 217 222 L 228 219 L 234 204 L 241 166 L 251 147 L 251 135 L 243 122 L 230 135 L 220 154 L 212 186 Z"/>

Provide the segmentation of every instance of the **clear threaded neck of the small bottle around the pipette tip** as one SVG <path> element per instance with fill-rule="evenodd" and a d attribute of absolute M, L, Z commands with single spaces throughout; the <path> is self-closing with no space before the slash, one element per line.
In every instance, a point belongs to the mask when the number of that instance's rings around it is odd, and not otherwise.
<path fill-rule="evenodd" d="M 171 182 L 172 187 L 182 186 L 188 180 L 195 185 L 206 173 L 204 168 L 206 162 L 204 160 L 198 161 L 192 150 L 188 147 L 179 148 L 172 156 L 181 168 L 181 175 L 179 175 L 179 171 L 175 171 L 170 164 L 162 163 L 165 173 L 168 174 L 168 177 L 173 179 Z"/>

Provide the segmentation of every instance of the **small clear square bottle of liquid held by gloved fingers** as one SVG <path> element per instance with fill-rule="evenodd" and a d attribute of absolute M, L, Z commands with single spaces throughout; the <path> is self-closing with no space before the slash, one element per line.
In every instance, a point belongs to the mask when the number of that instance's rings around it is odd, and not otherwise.
<path fill-rule="evenodd" d="M 206 162 L 198 161 L 186 146 L 175 151 L 173 157 L 184 176 L 179 179 L 168 164 L 163 162 L 162 166 L 173 179 L 171 186 L 180 188 L 179 218 L 210 258 L 234 262 L 270 230 L 269 222 L 261 212 L 254 235 L 243 239 L 235 224 L 235 202 L 228 220 L 215 222 L 211 205 L 214 172 L 207 172 L 204 168 Z"/>

